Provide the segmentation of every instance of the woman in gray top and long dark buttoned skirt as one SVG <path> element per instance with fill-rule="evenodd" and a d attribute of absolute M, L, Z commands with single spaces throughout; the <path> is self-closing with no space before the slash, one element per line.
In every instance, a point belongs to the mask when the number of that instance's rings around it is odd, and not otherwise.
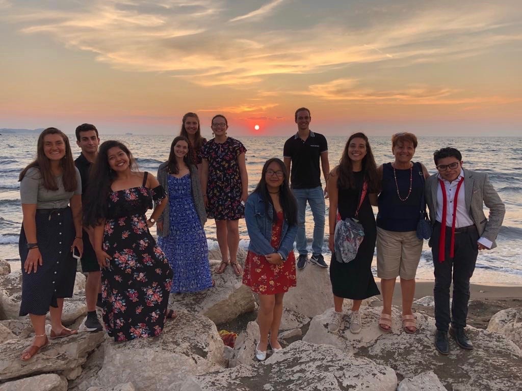
<path fill-rule="evenodd" d="M 35 334 L 20 357 L 27 361 L 49 344 L 47 312 L 51 312 L 51 339 L 77 333 L 62 324 L 62 309 L 64 298 L 73 296 L 77 264 L 73 251 L 77 256 L 83 251 L 81 178 L 62 131 L 47 128 L 40 134 L 37 158 L 23 169 L 19 181 L 23 213 L 18 243 L 20 316 L 29 314 Z"/>

